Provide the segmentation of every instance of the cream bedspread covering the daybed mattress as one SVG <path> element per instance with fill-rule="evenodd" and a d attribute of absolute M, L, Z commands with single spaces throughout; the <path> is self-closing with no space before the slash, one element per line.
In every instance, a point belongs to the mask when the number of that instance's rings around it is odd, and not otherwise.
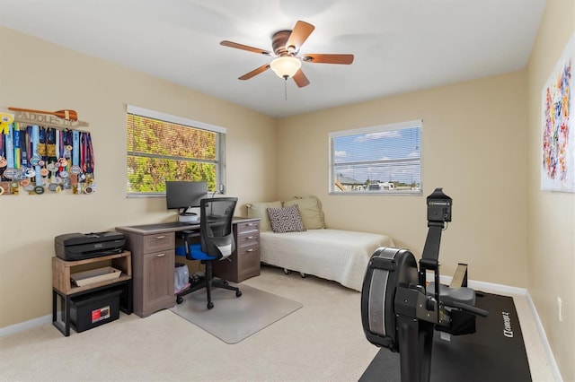
<path fill-rule="evenodd" d="M 260 245 L 262 263 L 361 291 L 369 258 L 378 247 L 394 247 L 394 241 L 385 235 L 351 230 L 261 231 Z"/>

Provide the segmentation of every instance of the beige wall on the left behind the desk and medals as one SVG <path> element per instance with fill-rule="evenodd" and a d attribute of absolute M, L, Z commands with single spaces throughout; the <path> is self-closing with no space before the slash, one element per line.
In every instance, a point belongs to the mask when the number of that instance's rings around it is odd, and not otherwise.
<path fill-rule="evenodd" d="M 55 236 L 175 220 L 164 198 L 126 198 L 127 103 L 226 127 L 228 194 L 275 195 L 275 119 L 13 30 L 0 28 L 0 41 L 12 52 L 0 60 L 0 109 L 75 109 L 90 123 L 97 187 L 0 197 L 0 327 L 50 314 Z"/>

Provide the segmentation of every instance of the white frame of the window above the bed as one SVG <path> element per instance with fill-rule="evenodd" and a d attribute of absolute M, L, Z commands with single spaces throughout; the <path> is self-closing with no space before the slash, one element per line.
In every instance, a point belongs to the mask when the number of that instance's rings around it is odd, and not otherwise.
<path fill-rule="evenodd" d="M 339 187 L 336 186 L 335 181 L 337 180 L 337 165 L 342 163 L 341 161 L 336 161 L 336 152 L 335 152 L 335 139 L 345 137 L 345 136 L 352 136 L 352 135 L 367 135 L 367 134 L 374 134 L 374 133 L 383 133 L 388 131 L 396 131 L 396 130 L 405 130 L 410 128 L 419 127 L 420 135 L 419 135 L 419 170 L 420 170 L 420 182 L 419 188 L 416 189 L 403 189 L 403 188 L 396 188 L 396 189 L 379 189 L 379 190 L 341 190 Z M 392 124 L 385 124 L 385 125 L 376 125 L 376 126 L 367 126 L 367 127 L 359 127 L 355 129 L 349 130 L 342 130 L 337 132 L 331 132 L 328 134 L 329 140 L 329 184 L 328 184 L 328 192 L 329 195 L 423 195 L 423 148 L 422 148 L 422 137 L 423 137 L 423 120 L 422 119 L 415 119 L 406 122 L 399 122 L 399 123 L 392 123 Z M 396 161 L 396 160 L 390 160 Z M 415 161 L 415 160 L 414 160 Z M 368 161 L 366 161 L 368 162 Z M 392 179 L 393 180 L 393 179 Z"/>

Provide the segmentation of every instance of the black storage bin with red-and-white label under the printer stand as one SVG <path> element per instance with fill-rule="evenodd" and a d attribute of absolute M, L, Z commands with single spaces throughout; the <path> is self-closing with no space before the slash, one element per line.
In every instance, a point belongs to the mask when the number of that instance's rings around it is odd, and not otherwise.
<path fill-rule="evenodd" d="M 72 299 L 70 323 L 77 333 L 119 318 L 120 289 L 94 292 Z"/>

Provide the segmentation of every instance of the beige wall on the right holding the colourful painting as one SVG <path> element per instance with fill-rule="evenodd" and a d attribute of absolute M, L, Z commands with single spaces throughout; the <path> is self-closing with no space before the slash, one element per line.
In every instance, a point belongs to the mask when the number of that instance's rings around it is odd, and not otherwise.
<path fill-rule="evenodd" d="M 527 67 L 527 288 L 566 381 L 575 381 L 575 194 L 540 190 L 541 98 L 574 31 L 575 1 L 548 1 Z M 562 299 L 562 322 L 557 298 Z"/>

